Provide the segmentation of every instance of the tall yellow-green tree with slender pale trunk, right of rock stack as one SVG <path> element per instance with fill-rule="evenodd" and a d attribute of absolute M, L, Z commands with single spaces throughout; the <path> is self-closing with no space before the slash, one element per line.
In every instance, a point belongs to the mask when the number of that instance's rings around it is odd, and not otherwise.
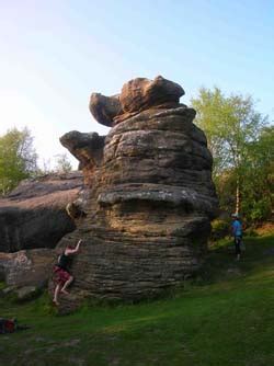
<path fill-rule="evenodd" d="M 214 180 L 218 182 L 222 174 L 233 174 L 238 213 L 248 147 L 258 139 L 267 117 L 254 110 L 251 96 L 225 96 L 218 88 L 213 91 L 202 88 L 198 96 L 192 99 L 192 105 L 197 111 L 196 124 L 205 131 L 214 157 Z"/>

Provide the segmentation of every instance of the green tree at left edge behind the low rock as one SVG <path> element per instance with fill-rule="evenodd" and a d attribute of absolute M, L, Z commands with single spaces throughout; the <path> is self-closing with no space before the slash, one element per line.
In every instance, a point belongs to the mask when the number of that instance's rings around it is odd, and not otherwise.
<path fill-rule="evenodd" d="M 25 127 L 12 128 L 0 137 L 0 193 L 7 194 L 20 181 L 37 171 L 37 153 L 33 137 Z"/>

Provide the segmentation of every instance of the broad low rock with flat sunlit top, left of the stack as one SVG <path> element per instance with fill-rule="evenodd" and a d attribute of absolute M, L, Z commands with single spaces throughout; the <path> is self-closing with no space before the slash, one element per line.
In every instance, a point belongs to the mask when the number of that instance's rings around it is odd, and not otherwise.
<path fill-rule="evenodd" d="M 75 221 L 66 211 L 82 190 L 81 172 L 24 181 L 0 199 L 0 252 L 55 248 Z"/>

